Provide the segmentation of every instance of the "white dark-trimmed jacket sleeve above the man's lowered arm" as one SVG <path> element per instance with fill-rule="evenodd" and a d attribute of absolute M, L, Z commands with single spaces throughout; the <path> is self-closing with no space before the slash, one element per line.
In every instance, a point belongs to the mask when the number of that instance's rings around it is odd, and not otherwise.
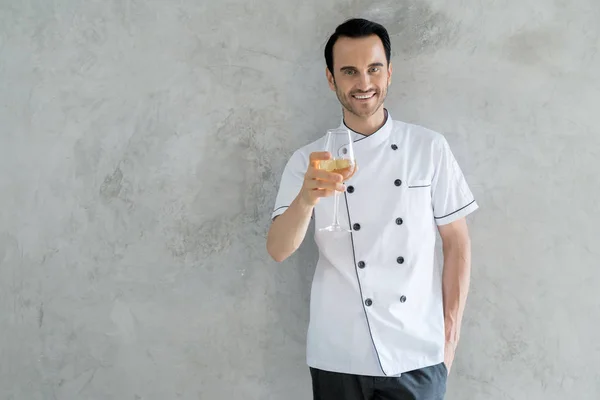
<path fill-rule="evenodd" d="M 443 136 L 436 141 L 437 155 L 432 181 L 433 215 L 436 224 L 445 225 L 465 217 L 479 206 Z"/>

